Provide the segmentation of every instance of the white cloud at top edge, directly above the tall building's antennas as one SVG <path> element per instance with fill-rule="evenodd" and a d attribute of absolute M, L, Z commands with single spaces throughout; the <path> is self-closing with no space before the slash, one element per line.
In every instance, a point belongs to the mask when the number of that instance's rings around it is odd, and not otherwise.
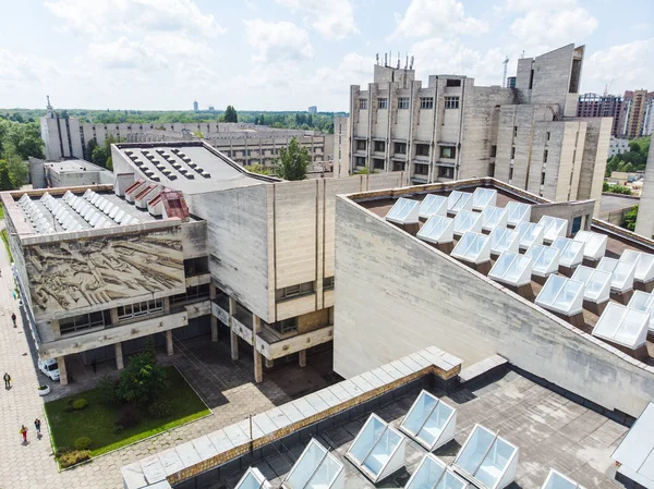
<path fill-rule="evenodd" d="M 488 24 L 467 16 L 463 3 L 457 0 L 412 0 L 404 15 L 396 14 L 396 19 L 398 26 L 391 39 L 488 32 Z"/>

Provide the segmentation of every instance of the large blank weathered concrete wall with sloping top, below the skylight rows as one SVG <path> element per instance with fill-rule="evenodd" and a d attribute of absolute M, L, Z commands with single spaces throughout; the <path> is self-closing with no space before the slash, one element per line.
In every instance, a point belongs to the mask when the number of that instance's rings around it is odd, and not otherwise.
<path fill-rule="evenodd" d="M 471 365 L 499 354 L 638 416 L 654 367 L 628 358 L 360 206 L 337 199 L 334 368 L 343 377 L 435 344 Z"/>

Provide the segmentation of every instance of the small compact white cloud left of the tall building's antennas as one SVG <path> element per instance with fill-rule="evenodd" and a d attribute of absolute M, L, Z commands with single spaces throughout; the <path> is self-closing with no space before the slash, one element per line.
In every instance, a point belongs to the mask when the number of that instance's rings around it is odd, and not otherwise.
<path fill-rule="evenodd" d="M 308 33 L 291 22 L 243 21 L 254 61 L 300 61 L 313 58 Z"/>

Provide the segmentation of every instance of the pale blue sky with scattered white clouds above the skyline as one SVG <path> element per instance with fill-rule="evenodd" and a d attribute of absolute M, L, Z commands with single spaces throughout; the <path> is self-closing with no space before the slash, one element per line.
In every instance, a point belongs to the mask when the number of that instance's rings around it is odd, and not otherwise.
<path fill-rule="evenodd" d="M 500 85 L 585 45 L 581 91 L 654 90 L 654 2 L 0 0 L 0 107 L 347 111 L 375 54 Z"/>

